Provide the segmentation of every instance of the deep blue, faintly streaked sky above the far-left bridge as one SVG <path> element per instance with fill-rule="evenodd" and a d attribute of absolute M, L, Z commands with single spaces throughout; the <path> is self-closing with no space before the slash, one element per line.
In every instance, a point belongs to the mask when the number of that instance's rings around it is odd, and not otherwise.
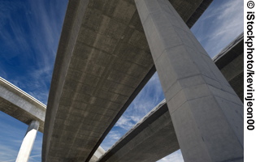
<path fill-rule="evenodd" d="M 67 0 L 0 4 L 0 76 L 46 104 Z"/>

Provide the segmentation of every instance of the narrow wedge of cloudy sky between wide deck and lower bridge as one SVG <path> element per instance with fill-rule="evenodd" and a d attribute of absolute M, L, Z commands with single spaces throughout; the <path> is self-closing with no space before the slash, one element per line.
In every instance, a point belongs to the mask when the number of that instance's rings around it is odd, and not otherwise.
<path fill-rule="evenodd" d="M 111 132 L 107 134 L 101 147 L 108 150 L 122 135 L 154 109 L 163 99 L 163 90 L 158 79 L 158 74 L 155 73 L 135 100 L 132 101 L 132 104 L 129 105 L 123 116 L 116 122 Z"/>

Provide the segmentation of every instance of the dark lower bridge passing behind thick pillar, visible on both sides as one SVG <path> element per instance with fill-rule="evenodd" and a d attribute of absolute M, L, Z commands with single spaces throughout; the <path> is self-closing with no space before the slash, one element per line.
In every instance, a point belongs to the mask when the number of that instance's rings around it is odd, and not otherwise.
<path fill-rule="evenodd" d="M 223 73 L 228 83 L 231 84 L 235 92 L 239 92 L 238 96 L 243 97 L 243 77 L 239 77 L 244 73 L 244 39 L 243 33 L 237 36 L 235 40 L 227 45 L 220 53 L 218 53 L 213 61 Z M 222 70 L 222 69 L 225 70 Z M 232 83 L 237 83 L 235 86 Z M 164 120 L 158 120 L 163 118 Z M 154 127 L 152 127 L 152 123 Z M 163 128 L 171 128 L 162 132 Z M 145 129 L 149 130 L 145 132 Z M 164 134 L 169 134 L 164 136 Z M 148 140 L 152 139 L 152 140 Z M 161 143 L 162 142 L 162 143 Z M 133 143 L 133 145 L 131 144 Z M 132 145 L 132 146 L 131 146 Z M 141 149 L 140 146 L 143 146 Z M 171 148 L 167 148 L 171 147 Z M 172 152 L 180 149 L 178 140 L 176 139 L 175 130 L 171 122 L 171 116 L 167 109 L 166 101 L 163 100 L 158 106 L 150 111 L 140 122 L 128 130 L 98 162 L 105 161 L 157 161 Z M 132 157 L 132 158 L 131 158 Z"/>

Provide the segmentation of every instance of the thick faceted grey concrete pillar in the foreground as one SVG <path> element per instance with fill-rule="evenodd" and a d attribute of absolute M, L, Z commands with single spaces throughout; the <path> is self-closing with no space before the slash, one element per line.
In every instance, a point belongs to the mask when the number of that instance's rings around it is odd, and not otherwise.
<path fill-rule="evenodd" d="M 243 161 L 241 100 L 168 0 L 135 2 L 184 161 Z"/>

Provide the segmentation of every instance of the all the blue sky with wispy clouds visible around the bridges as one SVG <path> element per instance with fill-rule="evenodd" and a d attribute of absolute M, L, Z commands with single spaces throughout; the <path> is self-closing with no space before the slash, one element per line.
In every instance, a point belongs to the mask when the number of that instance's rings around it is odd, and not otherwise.
<path fill-rule="evenodd" d="M 0 0 L 0 76 L 46 104 L 67 0 Z M 214 57 L 243 32 L 243 0 L 215 0 L 192 32 Z M 155 74 L 102 143 L 106 150 L 164 99 Z M 28 126 L 0 112 L 0 161 L 15 161 Z M 41 161 L 37 133 L 29 161 Z M 159 161 L 183 161 L 176 151 Z"/>

